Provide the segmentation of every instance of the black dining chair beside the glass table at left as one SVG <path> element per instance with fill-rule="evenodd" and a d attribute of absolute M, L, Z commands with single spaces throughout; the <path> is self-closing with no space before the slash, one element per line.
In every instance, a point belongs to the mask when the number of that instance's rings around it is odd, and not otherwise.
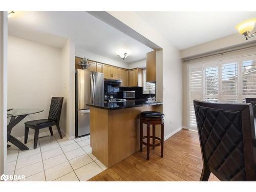
<path fill-rule="evenodd" d="M 48 115 L 48 119 L 38 119 L 33 121 L 25 122 L 25 138 L 24 143 L 28 142 L 29 129 L 35 130 L 34 135 L 34 148 L 37 147 L 39 130 L 49 127 L 50 133 L 53 136 L 52 126 L 56 125 L 60 138 L 62 139 L 60 127 L 59 127 L 59 119 L 61 114 L 61 108 L 63 103 L 63 97 L 52 97 L 50 111 Z"/>

